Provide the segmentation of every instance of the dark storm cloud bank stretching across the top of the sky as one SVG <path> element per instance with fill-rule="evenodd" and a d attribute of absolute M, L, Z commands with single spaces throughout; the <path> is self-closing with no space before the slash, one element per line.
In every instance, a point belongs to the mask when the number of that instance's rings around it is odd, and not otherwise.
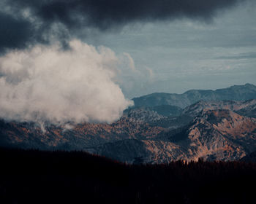
<path fill-rule="evenodd" d="M 21 47 L 27 42 L 42 42 L 43 39 L 47 42 L 52 35 L 65 39 L 69 34 L 78 34 L 84 28 L 105 31 L 121 28 L 129 23 L 172 20 L 178 17 L 208 21 L 219 10 L 244 1 L 246 0 L 7 0 L 4 1 L 5 6 L 10 8 L 12 15 L 21 16 L 26 9 L 33 20 L 27 17 L 17 20 L 1 14 L 0 49 Z M 59 29 L 62 30 L 58 31 Z"/>

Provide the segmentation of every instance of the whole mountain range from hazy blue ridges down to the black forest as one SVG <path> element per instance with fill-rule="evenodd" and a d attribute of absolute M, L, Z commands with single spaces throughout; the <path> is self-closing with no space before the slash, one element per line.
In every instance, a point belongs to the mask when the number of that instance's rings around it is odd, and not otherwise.
<path fill-rule="evenodd" d="M 121 162 L 242 160 L 256 150 L 256 87 L 153 93 L 112 124 L 45 125 L 0 120 L 0 145 L 83 150 Z M 69 125 L 70 126 L 70 125 Z"/>

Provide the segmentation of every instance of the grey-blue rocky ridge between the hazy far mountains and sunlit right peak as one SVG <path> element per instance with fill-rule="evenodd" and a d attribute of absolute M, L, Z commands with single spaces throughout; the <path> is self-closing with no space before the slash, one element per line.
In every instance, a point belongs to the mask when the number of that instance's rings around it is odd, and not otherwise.
<path fill-rule="evenodd" d="M 164 106 L 164 105 L 163 105 Z M 167 105 L 166 105 L 167 106 Z M 159 107 L 159 106 L 157 106 Z M 177 106 L 172 106 L 177 107 Z M 153 107 L 154 108 L 154 107 Z M 189 122 L 203 110 L 227 109 L 246 117 L 256 117 L 256 99 L 248 101 L 198 101 L 185 109 L 178 109 L 175 114 L 164 115 L 152 107 L 135 107 L 126 111 L 126 115 L 135 121 L 147 122 L 153 126 L 178 128 Z M 178 107 L 177 107 L 178 108 Z M 166 109 L 167 110 L 167 109 Z M 170 112 L 170 111 L 169 111 Z"/>

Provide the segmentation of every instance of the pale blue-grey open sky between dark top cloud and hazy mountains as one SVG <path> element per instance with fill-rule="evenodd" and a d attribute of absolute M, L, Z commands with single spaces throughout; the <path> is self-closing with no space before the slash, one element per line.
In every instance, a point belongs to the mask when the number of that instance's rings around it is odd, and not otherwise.
<path fill-rule="evenodd" d="M 83 40 L 131 55 L 135 68 L 144 74 L 130 72 L 124 77 L 121 87 L 129 98 L 256 84 L 256 7 L 252 2 L 218 12 L 209 22 L 185 17 L 134 23 L 118 33 L 98 33 Z"/>

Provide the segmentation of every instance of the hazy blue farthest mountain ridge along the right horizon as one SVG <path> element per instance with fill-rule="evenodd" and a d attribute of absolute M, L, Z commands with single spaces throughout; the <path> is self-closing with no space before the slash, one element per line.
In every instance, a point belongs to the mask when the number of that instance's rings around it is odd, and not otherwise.
<path fill-rule="evenodd" d="M 139 98 L 133 98 L 135 106 L 161 106 L 171 105 L 185 108 L 197 101 L 234 100 L 246 101 L 256 99 L 256 86 L 251 84 L 235 85 L 217 90 L 189 90 L 183 94 L 152 93 Z"/>

